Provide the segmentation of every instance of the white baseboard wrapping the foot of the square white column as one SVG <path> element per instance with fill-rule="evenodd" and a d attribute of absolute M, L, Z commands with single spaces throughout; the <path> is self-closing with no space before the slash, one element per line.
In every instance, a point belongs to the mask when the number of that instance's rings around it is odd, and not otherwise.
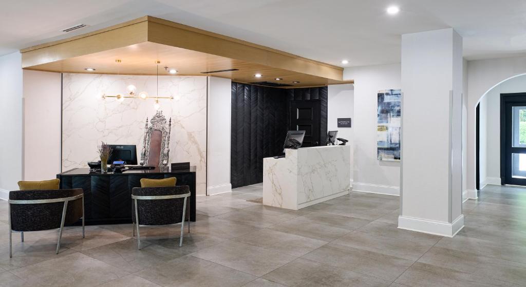
<path fill-rule="evenodd" d="M 399 216 L 398 228 L 445 237 L 453 237 L 464 228 L 464 214 L 460 214 L 460 216 L 453 220 L 452 223 Z"/>

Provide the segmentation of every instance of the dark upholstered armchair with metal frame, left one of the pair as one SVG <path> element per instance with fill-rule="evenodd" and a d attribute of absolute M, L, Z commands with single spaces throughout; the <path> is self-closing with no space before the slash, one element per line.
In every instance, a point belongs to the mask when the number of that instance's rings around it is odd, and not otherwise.
<path fill-rule="evenodd" d="M 84 238 L 84 191 L 82 189 L 16 190 L 9 192 L 9 257 L 13 257 L 11 234 L 60 228 L 56 254 L 64 224 L 82 218 Z"/>

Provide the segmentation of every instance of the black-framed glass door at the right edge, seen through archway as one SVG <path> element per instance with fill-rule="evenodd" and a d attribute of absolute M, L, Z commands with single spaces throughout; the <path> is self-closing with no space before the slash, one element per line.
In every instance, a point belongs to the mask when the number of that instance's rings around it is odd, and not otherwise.
<path fill-rule="evenodd" d="M 501 94 L 501 183 L 526 186 L 526 93 Z"/>

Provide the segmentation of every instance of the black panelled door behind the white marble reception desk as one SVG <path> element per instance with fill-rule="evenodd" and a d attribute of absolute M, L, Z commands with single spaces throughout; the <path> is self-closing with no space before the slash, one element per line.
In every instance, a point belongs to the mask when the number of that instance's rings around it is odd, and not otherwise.
<path fill-rule="evenodd" d="M 290 130 L 305 130 L 302 147 L 320 145 L 320 101 L 294 100 L 290 102 Z"/>

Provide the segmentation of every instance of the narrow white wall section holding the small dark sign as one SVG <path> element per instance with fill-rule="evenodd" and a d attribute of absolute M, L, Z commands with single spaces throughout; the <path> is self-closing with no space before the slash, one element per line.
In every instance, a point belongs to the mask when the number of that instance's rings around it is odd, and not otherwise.
<path fill-rule="evenodd" d="M 328 86 L 327 101 L 327 130 L 337 130 L 338 138 L 348 140 L 348 146 L 354 145 L 354 87 L 352 85 L 330 85 Z M 350 128 L 338 128 L 338 118 L 351 118 Z M 350 163 L 353 167 L 353 152 L 351 149 Z M 351 168 L 351 181 L 353 180 L 353 168 Z"/>

